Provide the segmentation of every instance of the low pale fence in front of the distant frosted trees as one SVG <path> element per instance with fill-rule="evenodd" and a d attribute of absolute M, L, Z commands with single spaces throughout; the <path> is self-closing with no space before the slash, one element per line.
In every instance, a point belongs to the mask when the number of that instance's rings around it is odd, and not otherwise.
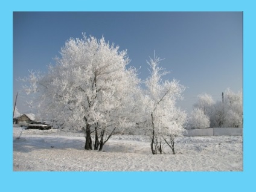
<path fill-rule="evenodd" d="M 186 130 L 184 136 L 220 136 L 220 135 L 243 135 L 243 128 L 217 127 L 207 129 Z"/>

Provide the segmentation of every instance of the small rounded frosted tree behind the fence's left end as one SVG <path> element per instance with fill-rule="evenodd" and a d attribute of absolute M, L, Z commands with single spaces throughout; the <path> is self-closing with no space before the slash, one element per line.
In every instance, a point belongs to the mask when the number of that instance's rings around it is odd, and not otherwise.
<path fill-rule="evenodd" d="M 210 127 L 210 118 L 202 109 L 194 108 L 189 118 L 189 126 L 192 129 L 201 129 Z"/>

